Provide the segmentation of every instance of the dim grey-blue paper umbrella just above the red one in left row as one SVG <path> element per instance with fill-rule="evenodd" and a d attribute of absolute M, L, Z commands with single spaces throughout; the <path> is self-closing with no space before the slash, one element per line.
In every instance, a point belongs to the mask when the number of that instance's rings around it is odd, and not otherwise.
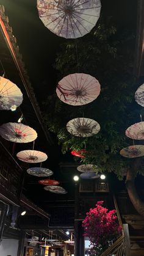
<path fill-rule="evenodd" d="M 52 170 L 41 168 L 41 167 L 32 167 L 27 169 L 27 174 L 34 175 L 37 177 L 49 177 L 53 174 Z"/>

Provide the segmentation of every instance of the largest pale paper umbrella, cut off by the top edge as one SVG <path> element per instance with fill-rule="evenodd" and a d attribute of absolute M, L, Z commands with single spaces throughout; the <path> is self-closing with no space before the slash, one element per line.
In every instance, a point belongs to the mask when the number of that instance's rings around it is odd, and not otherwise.
<path fill-rule="evenodd" d="M 37 0 L 38 14 L 54 34 L 82 37 L 92 30 L 101 11 L 100 0 Z"/>

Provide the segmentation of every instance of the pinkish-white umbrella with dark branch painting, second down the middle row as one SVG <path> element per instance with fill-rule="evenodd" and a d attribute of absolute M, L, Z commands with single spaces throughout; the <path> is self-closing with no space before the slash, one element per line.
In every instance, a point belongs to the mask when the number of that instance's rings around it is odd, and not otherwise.
<path fill-rule="evenodd" d="M 56 93 L 64 103 L 80 106 L 95 100 L 100 90 L 101 86 L 96 78 L 83 73 L 75 73 L 60 80 Z"/>

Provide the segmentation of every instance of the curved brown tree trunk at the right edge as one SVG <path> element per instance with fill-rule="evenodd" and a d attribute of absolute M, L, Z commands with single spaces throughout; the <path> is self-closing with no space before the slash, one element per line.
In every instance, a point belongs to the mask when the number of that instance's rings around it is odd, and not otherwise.
<path fill-rule="evenodd" d="M 140 200 L 135 188 L 135 177 L 137 176 L 137 170 L 139 170 L 140 164 L 141 159 L 135 159 L 133 166 L 128 169 L 126 175 L 126 188 L 135 210 L 137 210 L 137 212 L 144 218 L 144 203 Z"/>

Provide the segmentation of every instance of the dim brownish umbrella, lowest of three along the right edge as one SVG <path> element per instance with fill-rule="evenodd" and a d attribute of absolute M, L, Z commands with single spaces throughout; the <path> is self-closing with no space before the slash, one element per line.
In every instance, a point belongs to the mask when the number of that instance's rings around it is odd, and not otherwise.
<path fill-rule="evenodd" d="M 137 158 L 144 156 L 144 145 L 132 145 L 121 149 L 120 155 L 126 158 Z"/>

